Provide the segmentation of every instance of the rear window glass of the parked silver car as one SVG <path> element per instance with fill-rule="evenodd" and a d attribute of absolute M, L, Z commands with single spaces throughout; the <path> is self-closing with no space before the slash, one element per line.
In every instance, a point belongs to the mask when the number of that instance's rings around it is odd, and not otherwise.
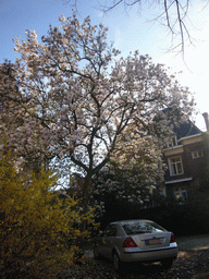
<path fill-rule="evenodd" d="M 160 227 L 156 222 L 145 222 L 145 221 L 125 223 L 123 225 L 123 229 L 125 230 L 125 233 L 128 235 L 165 231 L 162 227 Z"/>

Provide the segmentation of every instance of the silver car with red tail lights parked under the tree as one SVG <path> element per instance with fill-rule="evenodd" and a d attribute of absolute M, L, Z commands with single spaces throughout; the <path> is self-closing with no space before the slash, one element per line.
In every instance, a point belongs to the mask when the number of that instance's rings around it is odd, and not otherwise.
<path fill-rule="evenodd" d="M 172 232 L 153 221 L 115 221 L 95 239 L 94 255 L 112 259 L 116 271 L 123 263 L 133 262 L 161 262 L 170 268 L 177 257 L 177 243 Z"/>

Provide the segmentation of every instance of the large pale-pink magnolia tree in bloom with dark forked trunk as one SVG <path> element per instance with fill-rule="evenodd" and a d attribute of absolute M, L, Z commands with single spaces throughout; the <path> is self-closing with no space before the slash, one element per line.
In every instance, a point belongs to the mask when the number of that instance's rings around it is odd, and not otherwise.
<path fill-rule="evenodd" d="M 60 22 L 41 43 L 34 31 L 26 32 L 25 41 L 15 39 L 16 98 L 25 119 L 10 140 L 19 151 L 32 148 L 78 167 L 87 206 L 91 178 L 110 160 L 126 128 L 151 134 L 157 113 L 177 108 L 188 117 L 193 98 L 148 56 L 116 58 L 107 28 L 93 26 L 89 17 L 79 23 L 74 14 Z M 169 132 L 168 119 L 158 121 L 158 132 L 160 138 Z"/>

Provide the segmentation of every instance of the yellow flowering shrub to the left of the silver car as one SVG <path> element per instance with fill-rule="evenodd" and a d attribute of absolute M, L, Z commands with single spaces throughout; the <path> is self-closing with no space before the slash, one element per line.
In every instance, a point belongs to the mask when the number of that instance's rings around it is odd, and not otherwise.
<path fill-rule="evenodd" d="M 56 179 L 42 171 L 28 181 L 8 158 L 0 160 L 0 272 L 2 278 L 53 278 L 81 255 L 82 230 L 93 213 L 60 198 Z"/>

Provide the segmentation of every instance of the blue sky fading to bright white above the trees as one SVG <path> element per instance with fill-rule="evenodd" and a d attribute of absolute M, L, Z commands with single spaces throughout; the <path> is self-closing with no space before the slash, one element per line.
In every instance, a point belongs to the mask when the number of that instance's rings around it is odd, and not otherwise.
<path fill-rule="evenodd" d="M 26 29 L 35 29 L 40 43 L 49 24 L 60 26 L 61 14 L 71 16 L 72 5 L 64 1 L 0 0 L 0 63 L 4 59 L 14 62 L 16 52 L 12 39 L 20 37 L 24 40 Z M 108 1 L 100 0 L 100 3 Z M 98 0 L 77 0 L 77 17 L 83 21 L 90 15 L 93 25 L 102 23 L 109 27 L 108 40 L 114 43 L 123 57 L 138 50 L 140 54 L 149 54 L 155 63 L 165 64 L 172 73 L 176 73 L 181 85 L 195 94 L 198 111 L 195 121 L 205 131 L 201 113 L 209 112 L 209 4 L 206 4 L 206 0 L 192 1 L 186 24 L 193 44 L 185 45 L 183 59 L 181 53 L 168 51 L 172 37 L 162 19 L 153 21 L 162 11 L 159 4 L 149 5 L 145 2 L 142 7 L 134 5 L 128 10 L 124 10 L 122 4 L 103 14 Z"/>

